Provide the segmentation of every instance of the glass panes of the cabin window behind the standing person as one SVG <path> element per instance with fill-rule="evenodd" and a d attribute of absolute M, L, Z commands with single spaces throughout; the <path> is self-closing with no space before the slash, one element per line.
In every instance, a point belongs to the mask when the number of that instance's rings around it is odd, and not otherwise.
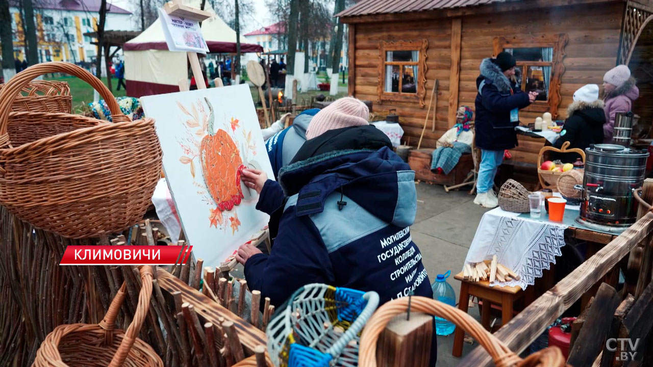
<path fill-rule="evenodd" d="M 552 47 L 505 48 L 517 60 L 517 82 L 526 93 L 536 91 L 535 101 L 549 99 L 551 69 L 553 67 Z"/>

